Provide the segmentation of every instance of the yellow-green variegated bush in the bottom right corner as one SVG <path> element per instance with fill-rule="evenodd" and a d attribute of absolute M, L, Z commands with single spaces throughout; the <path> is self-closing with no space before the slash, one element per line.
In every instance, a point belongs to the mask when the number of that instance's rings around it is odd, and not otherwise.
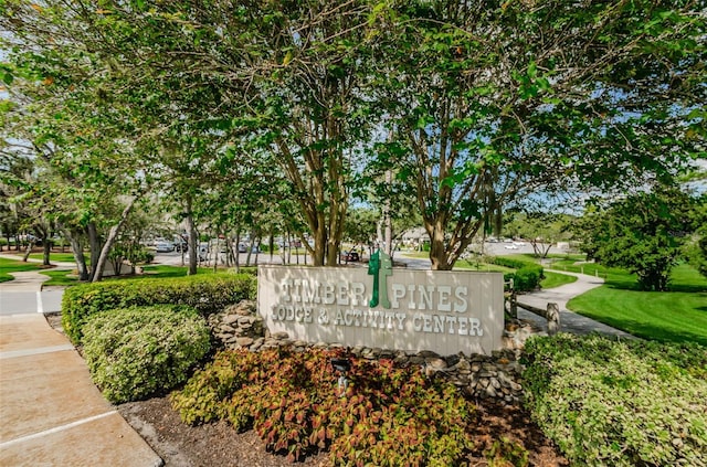
<path fill-rule="evenodd" d="M 558 335 L 525 359 L 527 406 L 572 464 L 706 465 L 704 347 Z"/>

